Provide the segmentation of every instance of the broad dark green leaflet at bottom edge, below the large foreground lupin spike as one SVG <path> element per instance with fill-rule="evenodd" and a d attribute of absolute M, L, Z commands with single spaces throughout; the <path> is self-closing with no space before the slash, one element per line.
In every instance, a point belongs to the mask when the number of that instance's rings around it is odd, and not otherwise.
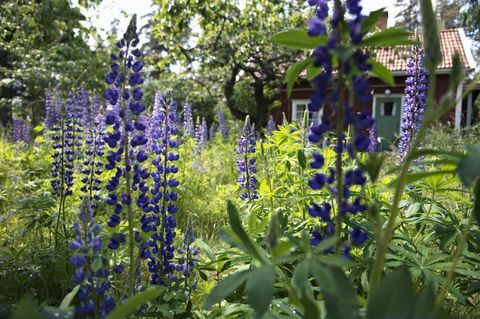
<path fill-rule="evenodd" d="M 316 265 L 313 276 L 322 288 L 329 318 L 354 319 L 359 317 L 357 293 L 343 270 Z"/>

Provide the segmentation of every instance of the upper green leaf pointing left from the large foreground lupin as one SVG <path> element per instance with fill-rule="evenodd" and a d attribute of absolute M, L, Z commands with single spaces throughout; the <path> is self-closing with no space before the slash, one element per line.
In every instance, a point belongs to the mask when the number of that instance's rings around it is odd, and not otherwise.
<path fill-rule="evenodd" d="M 272 36 L 272 41 L 291 48 L 315 49 L 320 45 L 327 44 L 327 37 L 323 35 L 311 37 L 307 30 L 292 29 L 278 32 Z"/>

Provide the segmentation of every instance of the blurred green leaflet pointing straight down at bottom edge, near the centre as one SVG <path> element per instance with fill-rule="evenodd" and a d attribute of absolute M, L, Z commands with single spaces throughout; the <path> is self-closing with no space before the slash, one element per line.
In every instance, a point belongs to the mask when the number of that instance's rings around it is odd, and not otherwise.
<path fill-rule="evenodd" d="M 257 318 L 268 310 L 273 297 L 273 285 L 275 284 L 275 269 L 270 265 L 264 265 L 253 270 L 247 281 L 247 301 Z"/>

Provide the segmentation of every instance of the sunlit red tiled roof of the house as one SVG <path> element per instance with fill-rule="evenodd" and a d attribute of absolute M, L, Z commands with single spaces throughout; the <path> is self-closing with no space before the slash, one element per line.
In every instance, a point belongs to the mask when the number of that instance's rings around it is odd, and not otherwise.
<path fill-rule="evenodd" d="M 420 38 L 422 38 L 420 36 Z M 463 30 L 447 29 L 440 31 L 440 51 L 442 52 L 442 62 L 437 67 L 439 70 L 448 70 L 452 68 L 452 56 L 455 52 L 460 55 L 463 66 L 467 69 L 474 69 L 475 66 L 468 55 L 468 46 Z M 384 64 L 391 72 L 404 72 L 407 70 L 407 60 L 410 56 L 409 46 L 397 46 L 387 48 L 376 48 L 374 56 L 377 61 Z"/>

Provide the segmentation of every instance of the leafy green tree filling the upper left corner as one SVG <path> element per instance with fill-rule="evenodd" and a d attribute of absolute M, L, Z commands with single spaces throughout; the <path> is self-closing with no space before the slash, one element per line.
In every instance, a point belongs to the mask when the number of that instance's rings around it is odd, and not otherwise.
<path fill-rule="evenodd" d="M 88 7 L 99 0 L 82 0 Z M 68 0 L 6 1 L 0 4 L 0 124 L 13 113 L 43 117 L 45 90 L 103 88 L 103 57 L 87 44 L 94 33 L 81 24 L 85 17 Z"/>

